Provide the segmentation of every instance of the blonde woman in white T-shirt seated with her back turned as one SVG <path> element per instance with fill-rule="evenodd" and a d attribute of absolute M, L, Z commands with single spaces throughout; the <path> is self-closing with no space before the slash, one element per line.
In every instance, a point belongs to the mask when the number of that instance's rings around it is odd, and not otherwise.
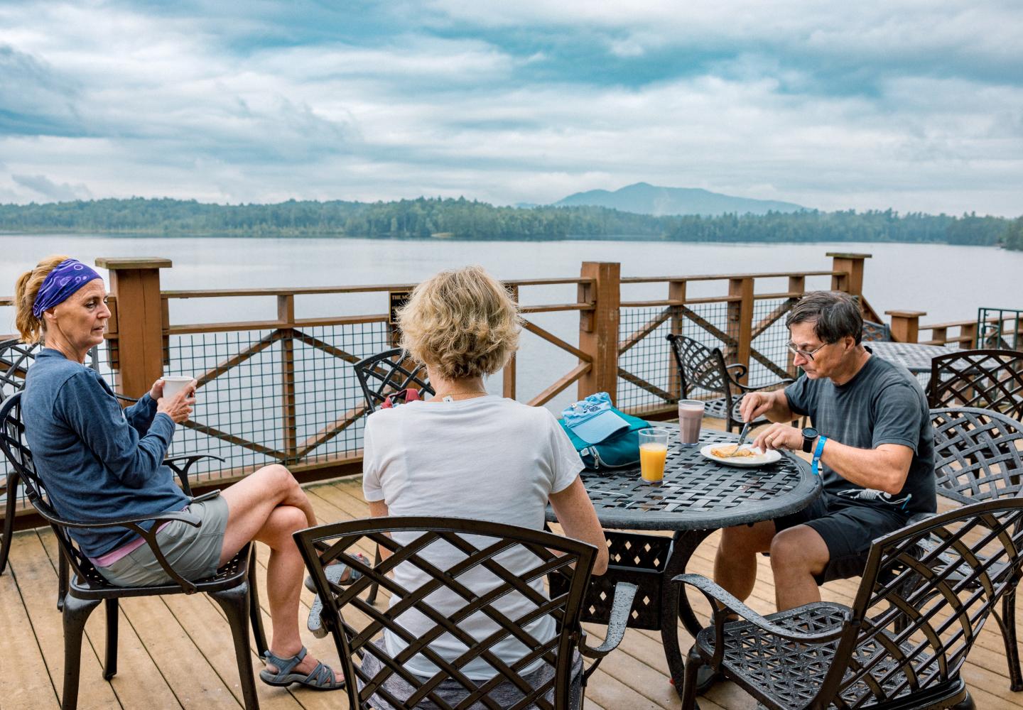
<path fill-rule="evenodd" d="M 594 573 L 603 574 L 608 566 L 604 531 L 579 479 L 583 465 L 568 436 L 543 407 L 488 395 L 484 389 L 484 375 L 500 370 L 519 347 L 518 309 L 504 287 L 478 266 L 443 271 L 415 287 L 399 313 L 399 324 L 402 347 L 426 365 L 437 394 L 429 401 L 381 409 L 366 419 L 363 493 L 370 515 L 473 518 L 540 530 L 549 501 L 566 535 L 597 547 Z M 433 553 L 438 562 L 459 559 L 453 548 Z M 530 559 L 523 554 L 525 570 Z M 395 577 L 408 589 L 427 581 L 412 565 L 398 566 Z M 532 584 L 544 593 L 542 580 Z M 435 596 L 431 605 L 448 614 L 464 603 L 453 596 L 434 602 Z M 502 602 L 509 618 L 531 609 L 522 596 Z M 414 611 L 398 621 L 413 635 L 433 627 Z M 477 638 L 494 629 L 482 614 L 459 626 Z M 531 631 L 540 640 L 554 632 L 550 617 L 538 619 Z M 392 655 L 406 646 L 390 632 L 384 642 Z M 431 648 L 449 660 L 464 651 L 450 634 Z M 511 664 L 529 650 L 509 638 L 491 651 Z M 363 661 L 363 669 L 371 673 L 366 663 L 376 663 L 371 654 Z M 539 661 L 534 666 L 523 672 L 543 672 Z M 419 655 L 406 668 L 420 676 L 435 672 Z M 482 659 L 461 671 L 475 680 L 495 673 Z"/>

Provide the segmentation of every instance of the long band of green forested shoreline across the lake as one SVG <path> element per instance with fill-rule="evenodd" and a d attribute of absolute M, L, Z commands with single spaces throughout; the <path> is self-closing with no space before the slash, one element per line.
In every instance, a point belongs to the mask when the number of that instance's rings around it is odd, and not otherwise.
<path fill-rule="evenodd" d="M 464 197 L 389 203 L 95 199 L 0 205 L 0 231 L 375 238 L 654 238 L 672 241 L 902 241 L 1023 250 L 1023 217 L 892 210 L 653 217 L 599 207 L 495 207 Z"/>

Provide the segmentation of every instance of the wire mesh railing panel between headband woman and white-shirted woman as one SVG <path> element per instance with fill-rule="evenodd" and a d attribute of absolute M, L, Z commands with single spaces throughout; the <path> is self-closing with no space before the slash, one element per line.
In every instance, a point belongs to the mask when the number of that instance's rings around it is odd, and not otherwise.
<path fill-rule="evenodd" d="M 201 481 L 354 453 L 362 447 L 363 397 L 350 360 L 389 343 L 384 323 L 172 337 L 167 373 L 206 382 L 171 453 L 226 459 L 199 462 Z"/>

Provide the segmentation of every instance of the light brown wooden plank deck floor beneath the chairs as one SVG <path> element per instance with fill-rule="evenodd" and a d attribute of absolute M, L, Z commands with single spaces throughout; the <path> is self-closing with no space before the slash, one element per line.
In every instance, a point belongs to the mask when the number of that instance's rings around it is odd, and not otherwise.
<path fill-rule="evenodd" d="M 323 522 L 364 517 L 358 479 L 308 488 L 317 516 Z M 698 550 L 692 571 L 709 574 L 717 535 Z M 260 573 L 265 575 L 265 548 Z M 760 561 L 759 581 L 750 600 L 761 613 L 773 610 L 773 588 L 766 559 Z M 62 684 L 63 636 L 60 614 L 54 606 L 56 544 L 49 529 L 17 533 L 10 567 L 0 576 L 0 708 L 51 710 L 59 707 Z M 828 584 L 827 600 L 850 603 L 855 580 Z M 263 586 L 263 582 L 261 582 Z M 303 604 L 312 595 L 303 590 Z M 706 608 L 703 608 L 706 611 Z M 267 624 L 264 595 L 264 616 Z M 207 596 L 166 596 L 122 601 L 119 673 L 102 679 L 102 613 L 94 613 L 82 653 L 81 708 L 238 708 L 241 692 L 227 622 Z M 601 635 L 601 627 L 590 629 Z M 306 641 L 328 663 L 337 661 L 329 638 Z M 683 649 L 690 636 L 680 631 Z M 255 651 L 253 652 L 255 656 Z M 261 667 L 254 658 L 257 668 Z M 981 710 L 1023 708 L 1023 693 L 1009 691 L 1002 638 L 985 627 L 964 671 Z M 261 682 L 264 708 L 345 708 L 339 693 L 271 689 Z M 668 682 L 660 635 L 629 630 L 618 651 L 605 659 L 587 689 L 587 707 L 675 708 L 674 687 Z M 714 687 L 702 701 L 704 710 L 747 710 L 755 703 L 730 683 Z"/>

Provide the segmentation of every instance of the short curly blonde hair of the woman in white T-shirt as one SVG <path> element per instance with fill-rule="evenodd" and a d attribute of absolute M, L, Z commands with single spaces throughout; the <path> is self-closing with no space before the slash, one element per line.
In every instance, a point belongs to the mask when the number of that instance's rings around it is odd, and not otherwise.
<path fill-rule="evenodd" d="M 401 347 L 448 380 L 497 372 L 519 349 L 519 306 L 482 266 L 441 271 L 398 312 Z"/>

